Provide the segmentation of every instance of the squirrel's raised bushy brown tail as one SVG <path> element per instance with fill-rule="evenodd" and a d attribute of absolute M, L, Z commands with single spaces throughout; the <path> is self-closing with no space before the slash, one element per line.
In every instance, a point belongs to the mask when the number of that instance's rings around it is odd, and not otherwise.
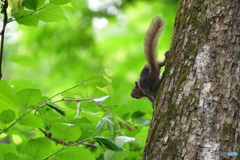
<path fill-rule="evenodd" d="M 157 45 L 159 37 L 164 29 L 163 18 L 158 15 L 152 23 L 144 38 L 144 53 L 151 70 L 157 70 Z"/>

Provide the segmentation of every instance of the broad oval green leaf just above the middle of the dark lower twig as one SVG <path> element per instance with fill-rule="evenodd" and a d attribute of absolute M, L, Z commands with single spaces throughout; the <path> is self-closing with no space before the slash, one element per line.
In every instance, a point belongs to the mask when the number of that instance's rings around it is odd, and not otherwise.
<path fill-rule="evenodd" d="M 73 124 L 55 123 L 51 127 L 54 137 L 62 141 L 76 141 L 81 136 L 80 127 Z"/>

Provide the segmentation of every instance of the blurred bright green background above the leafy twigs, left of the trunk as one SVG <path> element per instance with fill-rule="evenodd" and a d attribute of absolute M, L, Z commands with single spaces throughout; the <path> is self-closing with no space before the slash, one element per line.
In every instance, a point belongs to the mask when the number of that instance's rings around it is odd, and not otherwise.
<path fill-rule="evenodd" d="M 10 30 L 4 48 L 3 79 L 15 86 L 21 80 L 16 90 L 35 86 L 50 96 L 77 84 L 83 70 L 98 73 L 108 68 L 116 74 L 115 94 L 131 101 L 134 81 L 146 63 L 144 34 L 151 19 L 161 14 L 166 21 L 158 45 L 158 59 L 162 60 L 170 45 L 177 1 L 104 2 L 109 3 L 94 12 L 89 1 L 73 0 L 72 7 L 62 6 L 68 20 L 39 22 L 38 27 L 19 25 Z M 107 13 L 110 6 L 115 6 L 116 14 Z M 97 30 L 94 18 L 107 20 L 108 26 Z M 15 24 L 7 27 L 15 28 L 17 23 L 11 23 Z"/>

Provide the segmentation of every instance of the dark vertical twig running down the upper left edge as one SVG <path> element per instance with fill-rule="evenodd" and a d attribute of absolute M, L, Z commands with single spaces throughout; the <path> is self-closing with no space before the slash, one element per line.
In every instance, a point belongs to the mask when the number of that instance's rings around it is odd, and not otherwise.
<path fill-rule="evenodd" d="M 4 14 L 3 18 L 3 28 L 1 31 L 1 50 L 0 50 L 0 80 L 2 78 L 2 59 L 3 59 L 3 45 L 4 45 L 4 33 L 5 33 L 5 28 L 7 25 L 8 21 L 8 15 L 7 15 L 7 8 L 8 8 L 8 1 L 5 0 L 2 4 L 2 13 Z"/>

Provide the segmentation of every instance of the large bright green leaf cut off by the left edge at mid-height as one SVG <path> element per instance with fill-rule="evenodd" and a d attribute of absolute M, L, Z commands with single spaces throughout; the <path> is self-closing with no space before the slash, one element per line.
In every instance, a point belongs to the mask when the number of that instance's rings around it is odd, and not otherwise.
<path fill-rule="evenodd" d="M 0 113 L 3 110 L 12 110 L 15 115 L 18 113 L 19 99 L 6 81 L 0 81 Z"/>

